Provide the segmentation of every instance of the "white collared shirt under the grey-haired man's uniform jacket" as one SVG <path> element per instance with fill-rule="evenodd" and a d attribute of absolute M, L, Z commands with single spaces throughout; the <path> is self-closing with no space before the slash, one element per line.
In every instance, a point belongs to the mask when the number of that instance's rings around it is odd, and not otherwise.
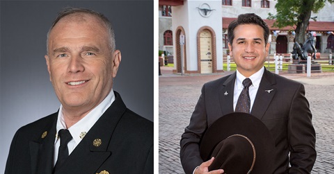
<path fill-rule="evenodd" d="M 93 110 L 91 110 L 84 118 L 79 120 L 77 123 L 72 125 L 68 130 L 70 131 L 73 139 L 67 143 L 68 155 L 72 153 L 74 148 L 80 143 L 81 139 L 84 138 L 86 133 L 93 127 L 102 114 L 110 107 L 110 105 L 115 101 L 115 94 L 113 94 L 113 89 L 111 92 L 104 98 L 104 100 L 97 105 Z M 56 165 L 58 159 L 58 148 L 60 146 L 60 139 L 58 139 L 58 131 L 61 129 L 66 129 L 66 124 L 63 117 L 63 105 L 61 105 L 58 112 L 58 119 L 56 125 L 56 139 L 54 140 L 54 165 Z"/>

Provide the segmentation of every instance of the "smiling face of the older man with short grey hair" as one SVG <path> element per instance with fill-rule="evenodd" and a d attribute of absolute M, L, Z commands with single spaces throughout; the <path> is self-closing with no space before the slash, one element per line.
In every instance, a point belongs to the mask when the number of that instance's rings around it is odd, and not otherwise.
<path fill-rule="evenodd" d="M 49 35 L 47 69 L 64 110 L 89 112 L 109 94 L 120 51 L 111 53 L 109 34 L 95 17 L 68 18 Z"/>

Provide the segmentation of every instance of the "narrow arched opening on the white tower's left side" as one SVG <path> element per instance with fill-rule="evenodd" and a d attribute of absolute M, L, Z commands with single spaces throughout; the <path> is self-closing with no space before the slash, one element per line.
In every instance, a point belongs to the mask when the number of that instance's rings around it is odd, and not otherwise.
<path fill-rule="evenodd" d="M 184 33 L 184 28 L 182 26 L 178 26 L 176 28 L 176 35 L 175 35 L 175 44 L 176 44 L 176 72 L 182 73 L 182 67 L 181 67 L 181 45 L 180 45 L 180 35 L 184 35 L 184 38 L 186 38 L 186 34 Z M 186 72 L 186 41 L 184 40 L 183 47 L 183 67 L 184 72 Z"/>

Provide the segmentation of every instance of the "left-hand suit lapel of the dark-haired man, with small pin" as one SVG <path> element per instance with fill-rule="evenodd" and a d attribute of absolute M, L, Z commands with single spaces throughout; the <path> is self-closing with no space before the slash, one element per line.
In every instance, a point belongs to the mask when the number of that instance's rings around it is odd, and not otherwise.
<path fill-rule="evenodd" d="M 229 114 L 233 110 L 234 81 L 236 73 L 232 73 L 230 77 L 221 85 L 219 89 L 219 100 L 221 103 L 221 114 Z"/>

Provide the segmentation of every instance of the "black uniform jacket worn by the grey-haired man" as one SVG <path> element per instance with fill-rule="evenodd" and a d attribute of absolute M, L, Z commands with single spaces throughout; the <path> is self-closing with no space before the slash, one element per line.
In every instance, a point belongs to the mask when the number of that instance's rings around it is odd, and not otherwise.
<path fill-rule="evenodd" d="M 55 173 L 153 173 L 153 123 L 127 109 L 115 95 L 116 100 Z M 17 130 L 6 174 L 52 173 L 57 116 L 58 112 Z M 102 140 L 101 146 L 93 146 L 95 139 Z"/>

